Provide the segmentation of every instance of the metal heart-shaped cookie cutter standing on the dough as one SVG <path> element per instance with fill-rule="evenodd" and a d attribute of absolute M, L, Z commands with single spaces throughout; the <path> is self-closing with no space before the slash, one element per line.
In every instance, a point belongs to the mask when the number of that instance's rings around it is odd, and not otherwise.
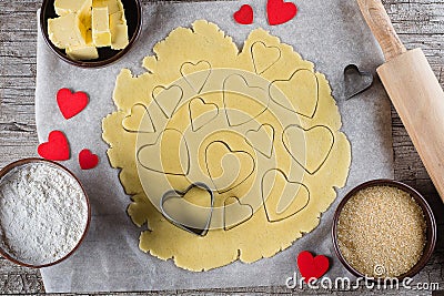
<path fill-rule="evenodd" d="M 179 198 L 179 200 L 182 201 L 182 202 L 186 202 L 186 198 L 185 198 L 186 194 L 188 194 L 192 188 L 194 188 L 194 187 L 199 187 L 199 188 L 205 190 L 205 191 L 209 193 L 209 195 L 210 195 L 210 213 L 209 213 L 209 215 L 208 215 L 208 218 L 206 218 L 205 224 L 204 224 L 203 227 L 201 227 L 201 228 L 196 228 L 196 227 L 192 227 L 192 226 L 186 226 L 185 223 L 181 223 L 180 221 L 176 221 L 176 220 L 175 220 L 172 215 L 170 215 L 170 214 L 165 211 L 165 208 L 164 208 L 164 203 L 165 203 L 168 200 Z M 188 203 L 189 203 L 189 202 L 188 202 Z M 194 205 L 194 206 L 198 206 L 198 205 Z M 202 206 L 198 206 L 198 207 L 202 207 Z M 210 190 L 209 186 L 206 186 L 206 184 L 204 184 L 204 183 L 199 183 L 199 182 L 198 182 L 198 183 L 194 183 L 194 184 L 191 184 L 191 185 L 190 185 L 186 190 L 184 190 L 183 192 L 181 192 L 181 191 L 175 191 L 175 190 L 168 191 L 168 192 L 165 192 L 165 193 L 162 195 L 162 197 L 161 197 L 161 200 L 160 200 L 160 210 L 161 210 L 161 213 L 162 213 L 162 215 L 163 215 L 168 221 L 170 221 L 172 224 L 174 224 L 174 225 L 178 226 L 179 228 L 184 229 L 184 231 L 186 231 L 186 232 L 189 232 L 189 233 L 199 235 L 199 236 L 205 236 L 205 235 L 208 234 L 208 232 L 209 232 L 209 229 L 210 229 L 210 224 L 211 224 L 211 218 L 212 218 L 212 214 L 213 214 L 213 208 L 214 208 L 214 194 L 213 194 L 213 192 Z"/>

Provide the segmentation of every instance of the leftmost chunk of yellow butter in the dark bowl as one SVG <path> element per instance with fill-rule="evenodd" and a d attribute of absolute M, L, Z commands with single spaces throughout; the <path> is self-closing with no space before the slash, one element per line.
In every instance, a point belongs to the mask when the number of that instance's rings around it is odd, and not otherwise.
<path fill-rule="evenodd" d="M 51 42 L 60 49 L 87 44 L 87 28 L 75 13 L 49 19 L 48 34 Z"/>

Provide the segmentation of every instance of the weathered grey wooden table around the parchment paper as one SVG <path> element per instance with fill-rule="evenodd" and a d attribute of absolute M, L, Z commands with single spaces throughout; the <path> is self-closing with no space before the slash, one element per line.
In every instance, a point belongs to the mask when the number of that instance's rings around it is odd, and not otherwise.
<path fill-rule="evenodd" d="M 148 0 L 145 0 L 148 1 Z M 395 29 L 408 49 L 423 48 L 433 70 L 444 85 L 444 0 L 383 1 Z M 36 11 L 34 0 L 0 0 L 0 167 L 22 157 L 36 156 L 38 145 L 34 122 L 36 88 Z M 427 266 L 415 283 L 438 283 L 444 290 L 444 205 L 413 147 L 403 124 L 392 111 L 395 178 L 423 193 L 437 220 L 438 239 Z M 444 149 L 444 147 L 443 147 Z M 0 292 L 3 294 L 40 294 L 44 286 L 39 271 L 23 268 L 0 258 Z M 361 295 L 364 290 L 347 292 Z M 286 287 L 228 288 L 163 292 L 161 294 L 291 294 Z M 293 292 L 293 293 L 297 293 Z M 311 292 L 311 294 L 319 294 Z M 341 290 L 326 292 L 340 294 Z M 430 295 L 431 290 L 402 290 L 403 294 Z M 108 294 L 114 294 L 112 292 Z M 115 293 L 117 294 L 117 293 Z M 147 293 L 125 293 L 141 295 Z M 150 294 L 157 294 L 152 292 Z M 373 290 L 373 295 L 398 295 L 398 290 Z"/>

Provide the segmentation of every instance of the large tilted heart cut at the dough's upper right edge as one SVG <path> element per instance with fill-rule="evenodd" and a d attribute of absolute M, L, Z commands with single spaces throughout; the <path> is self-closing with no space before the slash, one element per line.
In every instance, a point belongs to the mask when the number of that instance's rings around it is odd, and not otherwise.
<path fill-rule="evenodd" d="M 317 76 L 307 69 L 296 70 L 287 80 L 273 81 L 270 96 L 282 108 L 313 119 L 319 103 Z"/>

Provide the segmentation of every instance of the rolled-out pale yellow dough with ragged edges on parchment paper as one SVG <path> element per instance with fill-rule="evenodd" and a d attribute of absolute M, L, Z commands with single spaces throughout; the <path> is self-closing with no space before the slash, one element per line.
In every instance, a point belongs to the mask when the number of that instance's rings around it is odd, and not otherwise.
<path fill-rule="evenodd" d="M 204 20 L 172 31 L 154 53 L 147 73 L 121 71 L 118 111 L 103 120 L 109 160 L 132 195 L 128 213 L 147 224 L 140 248 L 199 272 L 271 257 L 313 231 L 351 163 L 325 76 L 262 29 L 239 50 Z M 168 188 L 194 182 L 214 194 L 204 236 L 159 211 Z M 186 196 L 209 204 L 205 191 Z"/>

